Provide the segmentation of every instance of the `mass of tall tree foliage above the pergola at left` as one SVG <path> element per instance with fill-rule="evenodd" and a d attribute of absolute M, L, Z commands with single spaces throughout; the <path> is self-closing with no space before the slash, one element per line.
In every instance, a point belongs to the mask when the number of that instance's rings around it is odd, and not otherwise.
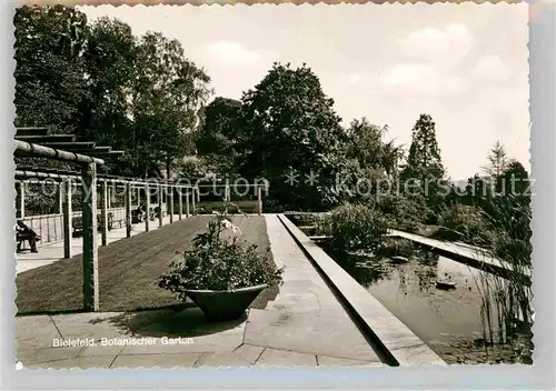
<path fill-rule="evenodd" d="M 169 174 L 191 152 L 209 77 L 177 40 L 140 39 L 128 24 L 88 23 L 72 7 L 18 8 L 14 16 L 16 126 L 48 127 L 125 151 L 109 173 Z"/>

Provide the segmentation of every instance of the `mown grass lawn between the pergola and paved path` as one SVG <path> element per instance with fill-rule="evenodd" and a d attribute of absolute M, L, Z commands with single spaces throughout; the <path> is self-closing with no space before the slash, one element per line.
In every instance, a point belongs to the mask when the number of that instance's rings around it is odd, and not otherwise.
<path fill-rule="evenodd" d="M 99 248 L 99 282 L 101 311 L 132 311 L 179 304 L 170 293 L 158 288 L 158 278 L 168 264 L 191 247 L 191 239 L 205 230 L 209 215 L 187 220 L 122 239 Z M 269 247 L 265 220 L 258 215 L 236 215 L 234 223 L 244 239 Z M 56 313 L 82 309 L 82 258 L 32 269 L 16 279 L 18 314 Z M 277 290 L 262 292 L 255 308 L 276 297 Z"/>

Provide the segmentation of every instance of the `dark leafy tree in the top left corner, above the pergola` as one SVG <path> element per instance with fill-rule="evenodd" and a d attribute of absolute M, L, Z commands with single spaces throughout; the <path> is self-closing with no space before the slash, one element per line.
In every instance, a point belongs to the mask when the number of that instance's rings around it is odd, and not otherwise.
<path fill-rule="evenodd" d="M 75 131 L 87 94 L 87 17 L 63 6 L 23 6 L 16 10 L 13 24 L 16 126 Z"/>

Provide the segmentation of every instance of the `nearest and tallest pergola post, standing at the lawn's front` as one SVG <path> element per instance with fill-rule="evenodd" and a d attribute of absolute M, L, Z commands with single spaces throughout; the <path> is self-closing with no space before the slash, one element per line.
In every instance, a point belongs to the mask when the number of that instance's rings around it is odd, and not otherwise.
<path fill-rule="evenodd" d="M 83 210 L 83 309 L 99 311 L 99 254 L 97 234 L 97 164 L 85 164 L 81 202 Z"/>

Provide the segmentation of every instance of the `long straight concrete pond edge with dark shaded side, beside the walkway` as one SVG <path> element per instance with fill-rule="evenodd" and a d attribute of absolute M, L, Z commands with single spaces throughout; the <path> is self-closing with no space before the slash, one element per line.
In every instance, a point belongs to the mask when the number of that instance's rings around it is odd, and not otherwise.
<path fill-rule="evenodd" d="M 446 365 L 436 352 L 285 214 L 278 214 L 278 218 L 314 267 L 322 274 L 329 288 L 341 300 L 341 304 L 354 317 L 356 323 L 376 344 L 385 363 L 393 367 Z"/>

